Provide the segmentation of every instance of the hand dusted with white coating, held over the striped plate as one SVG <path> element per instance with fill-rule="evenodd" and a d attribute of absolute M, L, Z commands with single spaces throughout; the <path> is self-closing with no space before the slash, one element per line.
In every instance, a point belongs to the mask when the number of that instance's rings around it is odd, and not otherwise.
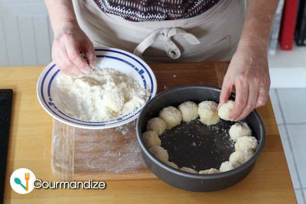
<path fill-rule="evenodd" d="M 86 60 L 79 51 L 85 53 Z M 96 60 L 94 47 L 77 23 L 62 22 L 54 29 L 52 60 L 61 72 L 72 77 L 91 73 Z"/>

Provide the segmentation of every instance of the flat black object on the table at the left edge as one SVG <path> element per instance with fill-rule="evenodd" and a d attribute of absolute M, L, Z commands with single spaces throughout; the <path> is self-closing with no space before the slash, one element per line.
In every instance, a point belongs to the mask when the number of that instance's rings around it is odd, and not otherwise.
<path fill-rule="evenodd" d="M 3 203 L 13 90 L 0 89 L 0 204 Z"/>

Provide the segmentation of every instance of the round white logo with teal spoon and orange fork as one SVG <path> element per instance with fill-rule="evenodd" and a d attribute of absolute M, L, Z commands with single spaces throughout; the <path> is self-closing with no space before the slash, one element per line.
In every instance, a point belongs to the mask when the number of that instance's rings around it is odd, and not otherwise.
<path fill-rule="evenodd" d="M 12 189 L 19 194 L 26 194 L 34 189 L 35 175 L 28 169 L 21 168 L 13 172 L 10 178 Z"/>

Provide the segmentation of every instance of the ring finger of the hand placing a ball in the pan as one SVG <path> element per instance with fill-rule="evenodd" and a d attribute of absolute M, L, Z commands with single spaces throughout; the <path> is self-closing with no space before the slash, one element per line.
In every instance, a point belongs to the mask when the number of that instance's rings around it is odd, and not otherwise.
<path fill-rule="evenodd" d="M 253 84 L 249 86 L 249 95 L 247 105 L 241 114 L 235 118 L 235 120 L 243 120 L 245 119 L 256 107 L 257 97 L 259 92 L 259 84 Z"/>

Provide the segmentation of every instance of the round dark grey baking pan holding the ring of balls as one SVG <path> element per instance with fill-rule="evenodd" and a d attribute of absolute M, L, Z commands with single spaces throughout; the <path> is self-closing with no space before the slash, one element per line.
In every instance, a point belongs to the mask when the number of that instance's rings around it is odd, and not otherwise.
<path fill-rule="evenodd" d="M 210 192 L 228 188 L 243 178 L 253 169 L 256 159 L 262 152 L 265 143 L 265 128 L 256 110 L 243 120 L 252 129 L 253 136 L 258 141 L 258 148 L 252 158 L 233 170 L 210 175 L 192 174 L 174 169 L 158 160 L 145 146 L 142 140 L 142 132 L 146 131 L 148 120 L 158 117 L 158 113 L 164 107 L 175 106 L 182 102 L 219 102 L 221 89 L 204 85 L 187 85 L 166 90 L 156 95 L 142 109 L 136 124 L 137 139 L 141 147 L 141 153 L 149 169 L 161 180 L 180 189 Z M 231 99 L 234 100 L 234 94 Z M 230 140 L 228 131 L 234 122 L 221 120 L 214 126 L 205 126 L 198 120 L 184 123 L 180 126 L 166 130 L 160 135 L 161 146 L 168 151 L 169 161 L 201 171 L 210 168 L 219 169 L 224 161 L 229 160 L 233 153 L 234 145 Z"/>

